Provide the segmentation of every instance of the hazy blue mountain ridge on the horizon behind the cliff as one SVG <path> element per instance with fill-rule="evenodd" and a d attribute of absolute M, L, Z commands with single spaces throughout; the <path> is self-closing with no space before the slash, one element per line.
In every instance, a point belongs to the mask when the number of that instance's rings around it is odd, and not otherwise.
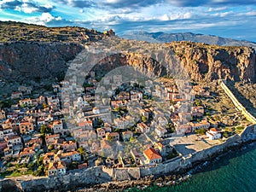
<path fill-rule="evenodd" d="M 256 48 L 256 43 L 249 41 L 239 41 L 232 38 L 221 38 L 213 35 L 195 34 L 192 32 L 184 33 L 165 33 L 165 32 L 126 32 L 119 35 L 121 38 L 136 39 L 150 43 L 168 43 L 172 41 L 192 41 L 205 44 L 218 44 L 221 46 L 248 46 Z"/>

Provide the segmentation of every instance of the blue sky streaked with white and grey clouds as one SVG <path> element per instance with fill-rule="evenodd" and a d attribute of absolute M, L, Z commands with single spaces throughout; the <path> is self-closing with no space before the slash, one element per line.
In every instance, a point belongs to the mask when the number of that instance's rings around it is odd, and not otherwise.
<path fill-rule="evenodd" d="M 256 0 L 0 0 L 0 20 L 104 31 L 194 32 L 256 42 Z"/>

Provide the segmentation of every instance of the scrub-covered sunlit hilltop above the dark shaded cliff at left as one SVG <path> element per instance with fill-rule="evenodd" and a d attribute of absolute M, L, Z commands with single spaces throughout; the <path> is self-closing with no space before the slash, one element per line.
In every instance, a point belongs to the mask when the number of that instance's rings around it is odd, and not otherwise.
<path fill-rule="evenodd" d="M 79 26 L 46 27 L 13 21 L 0 21 L 0 26 L 0 42 L 86 43 L 103 37 L 102 32 Z"/>

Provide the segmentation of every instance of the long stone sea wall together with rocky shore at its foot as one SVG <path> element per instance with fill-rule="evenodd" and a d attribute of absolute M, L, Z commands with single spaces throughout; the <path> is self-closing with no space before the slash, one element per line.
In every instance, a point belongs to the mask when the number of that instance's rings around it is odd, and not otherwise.
<path fill-rule="evenodd" d="M 255 142 L 256 126 L 251 125 L 240 135 L 230 137 L 224 143 L 192 154 L 186 159 L 186 162 L 180 158 L 154 167 L 106 170 L 104 167 L 98 166 L 79 172 L 69 172 L 61 177 L 15 177 L 0 180 L 0 191 L 120 191 L 153 184 L 174 185 L 186 181 L 189 178 L 186 176 L 187 173 L 193 173 L 196 167 L 203 165 L 206 161 L 216 160 L 217 157 L 227 154 L 230 150 L 237 151 L 247 144 Z"/>

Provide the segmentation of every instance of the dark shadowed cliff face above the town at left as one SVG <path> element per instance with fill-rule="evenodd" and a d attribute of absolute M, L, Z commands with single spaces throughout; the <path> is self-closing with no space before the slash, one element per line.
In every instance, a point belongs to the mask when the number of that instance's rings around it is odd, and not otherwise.
<path fill-rule="evenodd" d="M 79 44 L 0 44 L 0 79 L 7 82 L 55 79 L 66 73 L 67 61 L 73 60 L 82 49 Z"/>

